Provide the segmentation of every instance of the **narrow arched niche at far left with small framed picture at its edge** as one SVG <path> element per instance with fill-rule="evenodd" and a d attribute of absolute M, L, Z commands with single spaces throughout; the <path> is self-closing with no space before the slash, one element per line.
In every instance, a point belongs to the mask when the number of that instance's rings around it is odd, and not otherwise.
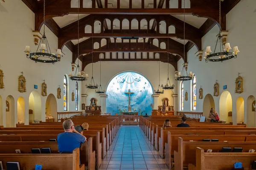
<path fill-rule="evenodd" d="M 15 110 L 13 96 L 7 96 L 6 101 L 9 103 L 9 111 L 6 111 L 6 127 L 15 127 Z"/>

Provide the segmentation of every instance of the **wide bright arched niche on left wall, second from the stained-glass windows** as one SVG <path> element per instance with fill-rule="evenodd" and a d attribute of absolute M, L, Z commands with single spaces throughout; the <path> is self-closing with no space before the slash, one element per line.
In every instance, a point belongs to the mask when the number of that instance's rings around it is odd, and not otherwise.
<path fill-rule="evenodd" d="M 29 95 L 29 122 L 34 123 L 34 119 L 42 120 L 41 96 L 37 91 L 32 91 Z"/>

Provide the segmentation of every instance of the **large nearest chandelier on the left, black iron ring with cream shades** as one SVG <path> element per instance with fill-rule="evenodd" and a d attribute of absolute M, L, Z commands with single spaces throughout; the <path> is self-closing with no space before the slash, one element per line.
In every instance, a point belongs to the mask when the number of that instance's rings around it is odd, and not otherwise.
<path fill-rule="evenodd" d="M 30 47 L 26 46 L 24 52 L 26 57 L 37 62 L 52 63 L 61 61 L 61 49 L 58 49 L 55 54 L 51 53 L 47 37 L 45 36 L 45 0 L 44 0 L 44 34 L 38 44 L 36 52 L 31 52 Z"/>

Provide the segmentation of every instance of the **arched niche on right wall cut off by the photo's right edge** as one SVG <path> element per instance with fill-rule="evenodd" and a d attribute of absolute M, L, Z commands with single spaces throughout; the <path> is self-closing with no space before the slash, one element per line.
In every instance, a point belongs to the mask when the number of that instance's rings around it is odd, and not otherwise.
<path fill-rule="evenodd" d="M 247 98 L 247 127 L 256 127 L 255 102 L 254 96 L 251 95 Z"/>

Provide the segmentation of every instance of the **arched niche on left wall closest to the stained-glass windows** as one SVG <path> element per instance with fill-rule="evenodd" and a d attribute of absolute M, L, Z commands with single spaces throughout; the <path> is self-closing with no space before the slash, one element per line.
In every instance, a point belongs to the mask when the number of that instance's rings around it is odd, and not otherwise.
<path fill-rule="evenodd" d="M 45 114 L 47 116 L 51 115 L 55 122 L 58 121 L 58 115 L 57 115 L 57 101 L 53 94 L 49 94 L 46 99 L 45 104 Z"/>

